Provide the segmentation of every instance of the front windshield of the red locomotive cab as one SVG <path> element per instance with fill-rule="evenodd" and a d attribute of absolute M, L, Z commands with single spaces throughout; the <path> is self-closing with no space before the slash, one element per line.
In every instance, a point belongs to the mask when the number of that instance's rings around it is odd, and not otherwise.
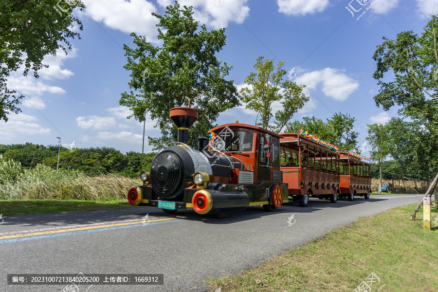
<path fill-rule="evenodd" d="M 211 149 L 224 152 L 252 151 L 254 134 L 247 131 L 232 131 L 226 127 L 210 141 Z"/>

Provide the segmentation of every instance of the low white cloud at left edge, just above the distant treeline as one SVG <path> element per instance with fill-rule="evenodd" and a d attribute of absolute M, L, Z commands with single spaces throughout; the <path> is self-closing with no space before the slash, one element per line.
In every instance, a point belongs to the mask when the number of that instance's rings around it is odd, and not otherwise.
<path fill-rule="evenodd" d="M 17 138 L 18 133 L 24 135 L 45 135 L 50 134 L 49 128 L 43 128 L 37 123 L 37 118 L 23 113 L 8 114 L 8 122 L 2 123 L 0 136 L 9 139 Z M 7 140 L 7 139 L 6 139 Z"/>

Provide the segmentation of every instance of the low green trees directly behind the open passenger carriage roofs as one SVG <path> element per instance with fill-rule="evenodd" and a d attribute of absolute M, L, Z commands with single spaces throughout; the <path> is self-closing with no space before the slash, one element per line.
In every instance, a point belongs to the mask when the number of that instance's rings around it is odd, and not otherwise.
<path fill-rule="evenodd" d="M 287 133 L 296 133 L 302 128 L 330 143 L 339 147 L 340 151 L 357 149 L 358 132 L 353 131 L 353 123 L 356 121 L 349 114 L 335 113 L 331 119 L 324 122 L 322 119 L 303 117 L 303 122 L 294 121 L 289 123 L 286 128 Z"/>

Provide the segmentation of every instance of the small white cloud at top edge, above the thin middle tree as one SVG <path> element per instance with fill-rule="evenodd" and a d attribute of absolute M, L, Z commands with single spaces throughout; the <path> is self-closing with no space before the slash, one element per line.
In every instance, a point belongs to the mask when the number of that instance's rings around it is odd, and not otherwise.
<path fill-rule="evenodd" d="M 329 5 L 329 0 L 277 0 L 278 12 L 286 15 L 306 15 L 322 12 Z"/>

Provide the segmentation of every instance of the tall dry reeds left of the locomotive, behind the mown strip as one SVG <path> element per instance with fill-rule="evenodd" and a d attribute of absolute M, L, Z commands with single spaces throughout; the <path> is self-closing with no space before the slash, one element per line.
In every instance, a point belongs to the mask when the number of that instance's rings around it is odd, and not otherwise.
<path fill-rule="evenodd" d="M 0 156 L 0 200 L 77 199 L 108 201 L 125 199 L 130 186 L 139 184 L 116 174 L 88 176 L 82 171 L 54 170 L 44 165 L 22 169 Z"/>

